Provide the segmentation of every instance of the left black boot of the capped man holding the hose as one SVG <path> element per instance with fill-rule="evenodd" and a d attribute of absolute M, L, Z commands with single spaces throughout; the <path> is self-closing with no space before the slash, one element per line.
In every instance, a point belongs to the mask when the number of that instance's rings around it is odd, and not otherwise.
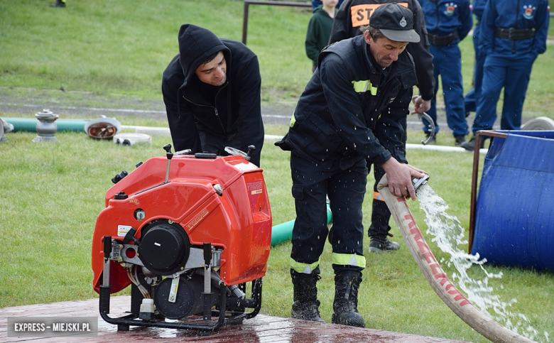
<path fill-rule="evenodd" d="M 317 274 L 297 273 L 290 269 L 293 279 L 293 308 L 290 315 L 296 319 L 312 320 L 313 322 L 325 322 L 320 317 L 320 301 L 317 300 Z"/>

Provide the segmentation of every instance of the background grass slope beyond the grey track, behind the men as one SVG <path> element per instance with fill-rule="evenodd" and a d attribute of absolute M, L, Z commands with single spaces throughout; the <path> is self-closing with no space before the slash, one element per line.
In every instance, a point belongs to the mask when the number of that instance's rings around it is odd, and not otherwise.
<path fill-rule="evenodd" d="M 0 0 L 0 87 L 114 92 L 159 100 L 162 72 L 178 53 L 181 24 L 242 38 L 240 0 L 72 0 L 64 9 L 50 8 L 50 2 Z M 311 62 L 304 48 L 310 16 L 306 8 L 249 6 L 247 43 L 259 56 L 264 101 L 294 101 L 310 79 Z M 550 27 L 550 33 L 553 30 Z M 468 92 L 472 39 L 462 40 L 460 48 Z M 547 50 L 533 65 L 524 116 L 554 119 L 553 64 L 554 54 Z"/>

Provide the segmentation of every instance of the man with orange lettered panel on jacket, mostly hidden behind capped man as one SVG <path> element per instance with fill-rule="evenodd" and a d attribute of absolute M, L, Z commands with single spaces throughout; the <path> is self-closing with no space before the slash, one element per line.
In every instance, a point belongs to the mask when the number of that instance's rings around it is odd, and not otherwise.
<path fill-rule="evenodd" d="M 344 0 L 343 5 L 335 15 L 329 43 L 335 43 L 339 40 L 362 34 L 360 28 L 369 24 L 371 13 L 379 6 L 392 2 L 398 2 L 398 4 L 412 11 L 413 30 L 421 38 L 418 43 L 408 44 L 406 50 L 412 55 L 415 64 L 415 75 L 418 77 L 418 88 L 421 94 L 418 102 L 415 103 L 415 112 L 423 113 L 431 107 L 431 99 L 433 99 L 435 92 L 435 77 L 433 76 L 433 55 L 429 52 L 425 18 L 417 0 Z M 403 120 L 402 126 L 404 131 L 406 131 L 406 119 Z M 406 142 L 406 137 L 404 142 Z M 373 164 L 373 161 L 367 160 L 368 169 L 371 168 L 371 164 Z M 384 173 L 384 170 L 374 165 L 375 184 L 373 187 L 373 202 L 371 203 L 371 225 L 367 232 L 370 239 L 369 251 L 374 253 L 400 249 L 400 244 L 389 240 L 389 236 L 391 236 L 389 234 L 391 230 L 389 226 L 391 211 L 381 199 L 379 192 L 377 192 L 377 184 Z"/>

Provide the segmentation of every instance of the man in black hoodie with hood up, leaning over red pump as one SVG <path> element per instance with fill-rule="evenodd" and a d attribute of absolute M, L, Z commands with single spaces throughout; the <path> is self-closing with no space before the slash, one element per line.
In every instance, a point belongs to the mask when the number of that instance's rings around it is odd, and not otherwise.
<path fill-rule="evenodd" d="M 246 45 L 184 24 L 179 53 L 163 72 L 162 93 L 175 151 L 247 152 L 260 165 L 264 145 L 258 58 Z"/>

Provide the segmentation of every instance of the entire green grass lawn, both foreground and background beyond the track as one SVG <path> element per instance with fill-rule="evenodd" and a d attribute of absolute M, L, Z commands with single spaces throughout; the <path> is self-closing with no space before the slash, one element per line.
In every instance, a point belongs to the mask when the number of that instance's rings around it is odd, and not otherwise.
<path fill-rule="evenodd" d="M 141 101 L 161 100 L 161 75 L 177 53 L 182 23 L 195 23 L 218 36 L 241 40 L 244 4 L 239 0 L 70 0 L 65 9 L 51 9 L 50 2 L 53 0 L 0 0 L 0 94 L 28 92 L 31 97 L 33 89 L 65 89 L 98 95 L 94 100 L 98 103 L 90 107 L 101 107 L 102 97 L 136 99 L 139 107 Z M 259 55 L 265 102 L 293 102 L 308 82 L 311 64 L 303 42 L 309 19 L 310 11 L 304 9 L 250 7 L 248 45 Z M 471 40 L 463 40 L 460 48 L 465 90 L 469 91 Z M 550 109 L 553 63 L 549 45 L 533 66 L 526 116 L 554 118 Z M 138 116 L 119 119 L 124 125 L 167 126 L 166 121 Z M 266 127 L 266 134 L 285 132 L 286 126 Z M 8 134 L 9 142 L 0 144 L 0 307 L 97 297 L 92 290 L 90 249 L 111 178 L 121 170 L 133 170 L 140 161 L 163 155 L 162 146 L 170 143 L 168 138 L 153 137 L 152 146 L 122 147 L 112 141 L 93 141 L 81 133 L 58 133 L 60 143 L 37 144 L 31 142 L 34 136 Z M 420 136 L 419 132 L 408 133 L 408 143 L 419 143 Z M 472 158 L 471 153 L 408 151 L 408 160 L 428 171 L 429 184 L 450 206 L 449 214 L 466 229 Z M 293 219 L 288 154 L 267 141 L 261 163 L 273 224 Z M 370 176 L 368 194 L 373 182 Z M 409 205 L 438 261 L 447 258 L 425 234 L 425 214 L 418 202 Z M 370 212 L 366 197 L 365 227 Z M 393 222 L 391 225 L 394 239 L 401 241 L 398 229 Z M 368 244 L 366 240 L 366 251 Z M 441 302 L 402 246 L 394 254 L 366 254 L 359 296 L 366 326 L 488 342 Z M 467 251 L 467 246 L 461 249 Z M 261 309 L 266 315 L 290 316 L 289 256 L 290 243 L 271 250 Z M 327 322 L 334 295 L 330 261 L 330 247 L 326 246 L 318 287 L 320 310 Z M 442 267 L 452 274 L 452 268 Z M 487 266 L 487 270 L 504 273 L 489 285 L 504 301 L 516 298 L 511 311 L 526 315 L 540 333 L 535 339 L 548 342 L 543 333 L 554 334 L 553 274 L 498 266 Z M 471 273 L 482 277 L 480 270 Z"/>

